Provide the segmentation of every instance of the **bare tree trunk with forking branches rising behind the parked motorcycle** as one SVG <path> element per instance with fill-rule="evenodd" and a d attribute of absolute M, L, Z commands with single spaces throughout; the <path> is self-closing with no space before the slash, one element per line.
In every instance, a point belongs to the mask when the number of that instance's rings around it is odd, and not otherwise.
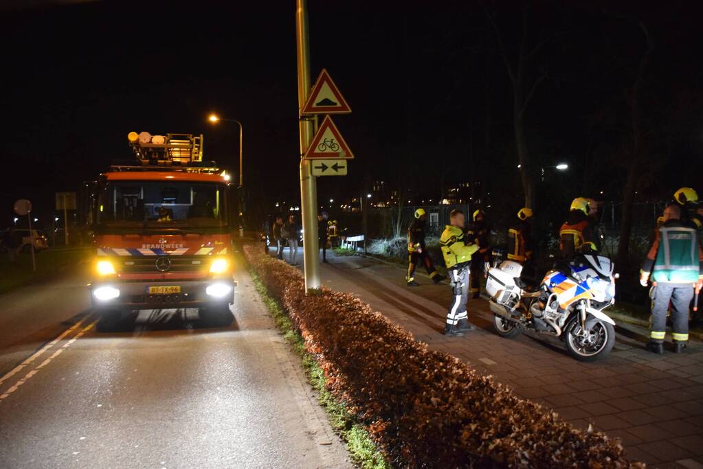
<path fill-rule="evenodd" d="M 517 58 L 512 59 L 508 56 L 508 51 L 505 50 L 505 45 L 503 44 L 501 32 L 496 24 L 494 14 L 486 8 L 486 16 L 489 18 L 489 22 L 496 36 L 496 42 L 498 43 L 498 52 L 501 54 L 501 58 L 503 58 L 505 70 L 508 72 L 510 84 L 512 85 L 512 119 L 515 126 L 515 148 L 517 150 L 517 164 L 520 165 L 520 178 L 522 180 L 525 206 L 534 208 L 536 168 L 527 151 L 525 112 L 536 89 L 546 78 L 546 73 L 544 72 L 537 74 L 534 78 L 531 78 L 528 73 L 529 63 L 538 54 L 540 48 L 546 43 L 546 40 L 538 41 L 535 46 L 529 47 L 527 13 L 528 8 L 523 8 L 522 39 L 517 47 Z"/>

